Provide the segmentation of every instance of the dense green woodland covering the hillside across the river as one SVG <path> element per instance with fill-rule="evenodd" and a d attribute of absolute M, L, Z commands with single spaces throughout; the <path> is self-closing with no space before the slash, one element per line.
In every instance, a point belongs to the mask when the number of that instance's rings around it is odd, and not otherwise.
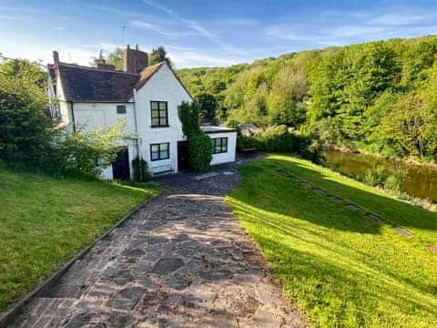
<path fill-rule="evenodd" d="M 286 125 L 325 144 L 437 159 L 437 36 L 178 70 L 229 126 Z"/>

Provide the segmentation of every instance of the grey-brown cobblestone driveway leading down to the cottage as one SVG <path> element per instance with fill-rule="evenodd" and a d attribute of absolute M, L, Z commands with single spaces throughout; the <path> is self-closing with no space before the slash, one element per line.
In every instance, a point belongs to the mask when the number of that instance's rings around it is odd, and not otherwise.
<path fill-rule="evenodd" d="M 302 327 L 223 200 L 239 173 L 215 173 L 160 179 L 168 193 L 76 261 L 22 326 Z"/>

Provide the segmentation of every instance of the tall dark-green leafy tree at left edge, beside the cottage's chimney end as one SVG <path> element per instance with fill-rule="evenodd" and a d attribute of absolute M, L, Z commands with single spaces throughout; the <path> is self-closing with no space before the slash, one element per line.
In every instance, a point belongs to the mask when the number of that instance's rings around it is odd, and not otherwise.
<path fill-rule="evenodd" d="M 0 158 L 44 156 L 55 133 L 49 117 L 45 74 L 28 61 L 0 65 Z"/>

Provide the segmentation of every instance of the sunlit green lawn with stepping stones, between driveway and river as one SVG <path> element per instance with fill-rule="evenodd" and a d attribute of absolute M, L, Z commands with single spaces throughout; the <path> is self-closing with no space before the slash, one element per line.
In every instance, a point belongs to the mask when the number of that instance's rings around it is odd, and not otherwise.
<path fill-rule="evenodd" d="M 271 165 L 363 210 L 305 190 Z M 427 249 L 437 245 L 437 213 L 292 156 L 240 171 L 229 205 L 312 326 L 437 327 L 437 253 Z M 365 219 L 366 211 L 385 223 Z"/>

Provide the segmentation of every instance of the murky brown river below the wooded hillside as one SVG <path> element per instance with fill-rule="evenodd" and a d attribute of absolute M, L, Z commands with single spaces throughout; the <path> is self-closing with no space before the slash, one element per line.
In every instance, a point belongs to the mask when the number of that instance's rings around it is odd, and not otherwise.
<path fill-rule="evenodd" d="M 408 172 L 403 191 L 414 197 L 437 202 L 437 169 L 405 163 L 396 159 L 335 150 L 324 151 L 323 157 L 330 169 L 351 177 L 362 177 L 366 170 L 379 165 L 401 166 Z"/>

